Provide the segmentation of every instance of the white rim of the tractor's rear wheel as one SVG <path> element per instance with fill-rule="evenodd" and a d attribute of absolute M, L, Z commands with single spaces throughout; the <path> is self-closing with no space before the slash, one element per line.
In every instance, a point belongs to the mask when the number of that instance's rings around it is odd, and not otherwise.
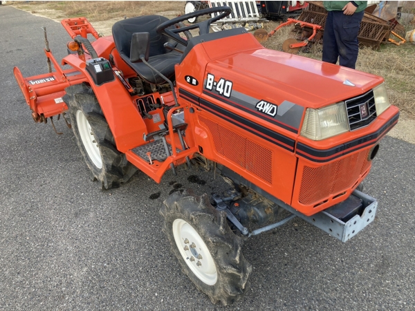
<path fill-rule="evenodd" d="M 89 125 L 84 113 L 80 110 L 76 112 L 76 122 L 86 153 L 88 153 L 88 156 L 95 167 L 102 169 L 102 158 L 100 149 L 98 148 L 98 142 L 96 142 L 95 136 L 92 133 L 91 125 Z"/>

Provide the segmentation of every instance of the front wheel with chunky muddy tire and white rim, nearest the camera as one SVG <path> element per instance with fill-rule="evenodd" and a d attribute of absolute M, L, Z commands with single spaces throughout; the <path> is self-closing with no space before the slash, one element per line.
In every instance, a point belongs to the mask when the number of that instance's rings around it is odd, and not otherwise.
<path fill-rule="evenodd" d="M 252 266 L 244 258 L 242 239 L 228 226 L 226 214 L 214 209 L 206 194 L 195 196 L 191 190 L 169 196 L 160 214 L 165 218 L 163 232 L 172 252 L 196 288 L 212 303 L 228 305 L 241 299 Z"/>

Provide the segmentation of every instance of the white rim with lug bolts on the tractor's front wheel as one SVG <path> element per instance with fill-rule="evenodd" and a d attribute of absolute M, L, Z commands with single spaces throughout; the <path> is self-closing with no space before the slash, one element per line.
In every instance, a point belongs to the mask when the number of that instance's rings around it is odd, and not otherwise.
<path fill-rule="evenodd" d="M 173 236 L 181 256 L 194 275 L 203 283 L 214 285 L 218 280 L 216 265 L 208 247 L 194 227 L 178 218 L 173 222 Z"/>

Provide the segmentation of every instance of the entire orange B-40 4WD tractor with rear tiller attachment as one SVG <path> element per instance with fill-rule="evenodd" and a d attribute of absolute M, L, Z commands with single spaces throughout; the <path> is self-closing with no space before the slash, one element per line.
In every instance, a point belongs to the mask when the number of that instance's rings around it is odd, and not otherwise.
<path fill-rule="evenodd" d="M 230 12 L 133 17 L 109 37 L 65 19 L 68 69 L 46 46 L 55 71 L 14 70 L 35 122 L 63 114 L 104 189 L 182 164 L 228 181 L 224 194 L 176 191 L 161 210 L 185 274 L 225 305 L 248 288 L 243 237 L 298 216 L 347 241 L 374 220 L 377 201 L 357 188 L 399 116 L 381 77 L 268 50 L 244 28 L 210 33 Z"/>

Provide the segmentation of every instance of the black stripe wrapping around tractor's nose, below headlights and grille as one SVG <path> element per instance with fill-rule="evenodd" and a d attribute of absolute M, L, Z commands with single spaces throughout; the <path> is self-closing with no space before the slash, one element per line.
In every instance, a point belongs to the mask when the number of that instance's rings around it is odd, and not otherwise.
<path fill-rule="evenodd" d="M 378 131 L 371 133 L 369 135 L 358 138 L 357 140 L 352 140 L 345 144 L 340 144 L 331 149 L 319 150 L 297 142 L 297 154 L 314 162 L 329 162 L 336 158 L 345 156 L 353 151 L 368 147 L 372 144 L 375 144 L 382 138 L 386 133 L 398 122 L 399 113 L 396 113 L 394 117 L 391 117 L 391 120 L 382 126 Z"/>

